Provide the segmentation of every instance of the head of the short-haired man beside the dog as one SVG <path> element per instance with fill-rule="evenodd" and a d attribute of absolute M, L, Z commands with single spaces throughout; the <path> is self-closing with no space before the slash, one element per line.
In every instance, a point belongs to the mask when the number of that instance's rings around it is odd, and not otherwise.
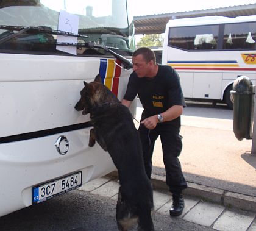
<path fill-rule="evenodd" d="M 132 55 L 133 71 L 138 77 L 154 77 L 158 66 L 155 53 L 150 48 L 138 48 Z"/>

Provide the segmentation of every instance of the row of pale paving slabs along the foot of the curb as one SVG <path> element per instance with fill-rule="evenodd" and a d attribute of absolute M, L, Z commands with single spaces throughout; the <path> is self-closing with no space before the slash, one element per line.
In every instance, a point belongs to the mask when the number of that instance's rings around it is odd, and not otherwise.
<path fill-rule="evenodd" d="M 117 199 L 119 183 L 116 179 L 102 177 L 83 185 L 79 190 L 89 191 L 99 196 Z M 154 190 L 154 212 L 169 216 L 171 195 L 168 191 Z M 177 218 L 202 227 L 224 231 L 256 231 L 255 213 L 233 210 L 223 205 L 202 201 L 196 197 L 185 196 L 185 209 Z"/>

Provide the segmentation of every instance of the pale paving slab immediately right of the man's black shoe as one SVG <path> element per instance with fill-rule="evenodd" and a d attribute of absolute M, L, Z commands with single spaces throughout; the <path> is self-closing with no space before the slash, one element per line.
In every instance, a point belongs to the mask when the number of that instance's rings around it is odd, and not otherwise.
<path fill-rule="evenodd" d="M 200 224 L 201 226 L 211 226 L 218 216 L 221 215 L 222 211 L 224 211 L 224 207 L 221 205 L 200 202 L 183 219 Z"/>

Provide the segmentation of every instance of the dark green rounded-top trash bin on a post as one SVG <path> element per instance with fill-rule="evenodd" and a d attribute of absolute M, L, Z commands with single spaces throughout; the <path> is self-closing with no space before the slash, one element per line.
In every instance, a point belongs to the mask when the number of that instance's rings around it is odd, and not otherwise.
<path fill-rule="evenodd" d="M 252 138 L 255 86 L 247 76 L 238 77 L 230 91 L 233 98 L 233 131 L 238 140 Z"/>

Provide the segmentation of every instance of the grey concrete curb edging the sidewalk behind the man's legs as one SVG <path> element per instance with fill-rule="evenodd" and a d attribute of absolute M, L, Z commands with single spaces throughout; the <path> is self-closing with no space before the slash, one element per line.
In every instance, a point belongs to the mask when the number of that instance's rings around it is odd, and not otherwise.
<path fill-rule="evenodd" d="M 111 179 L 118 178 L 118 172 L 113 171 L 106 177 Z M 155 190 L 169 191 L 165 183 L 165 177 L 152 174 L 151 182 Z M 198 197 L 205 201 L 224 205 L 225 207 L 239 208 L 241 210 L 256 212 L 256 197 L 244 194 L 233 193 L 219 188 L 199 185 L 197 183 L 187 182 L 188 188 L 183 191 L 184 195 Z"/>

